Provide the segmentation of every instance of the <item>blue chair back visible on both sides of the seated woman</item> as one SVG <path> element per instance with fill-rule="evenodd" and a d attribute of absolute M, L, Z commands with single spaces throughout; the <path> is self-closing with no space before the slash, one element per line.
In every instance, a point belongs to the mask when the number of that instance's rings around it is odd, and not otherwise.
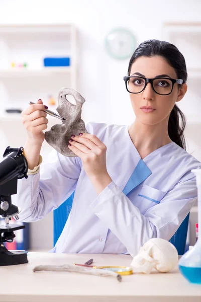
<path fill-rule="evenodd" d="M 64 225 L 68 219 L 68 215 L 72 207 L 73 198 L 74 192 L 68 199 L 66 199 L 66 201 L 64 201 L 57 209 L 54 210 L 54 246 L 59 236 L 61 235 Z M 189 214 L 190 213 L 188 213 L 188 215 L 179 226 L 178 230 L 169 240 L 169 242 L 171 242 L 175 246 L 179 255 L 183 255 L 185 253 Z"/>

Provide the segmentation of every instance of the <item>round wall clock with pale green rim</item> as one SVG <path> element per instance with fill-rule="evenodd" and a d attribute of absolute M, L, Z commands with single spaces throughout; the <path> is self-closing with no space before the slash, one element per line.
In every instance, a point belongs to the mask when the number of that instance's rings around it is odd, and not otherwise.
<path fill-rule="evenodd" d="M 106 36 L 106 49 L 115 59 L 130 58 L 136 49 L 136 39 L 126 28 L 111 30 Z"/>

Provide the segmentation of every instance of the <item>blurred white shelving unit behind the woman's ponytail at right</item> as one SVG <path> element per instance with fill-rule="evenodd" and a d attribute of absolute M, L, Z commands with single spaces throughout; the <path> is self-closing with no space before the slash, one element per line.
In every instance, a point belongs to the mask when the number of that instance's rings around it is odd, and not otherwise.
<path fill-rule="evenodd" d="M 163 39 L 174 44 L 185 58 L 188 90 L 177 105 L 186 117 L 187 152 L 201 161 L 201 23 L 165 23 Z M 190 245 L 195 244 L 196 204 L 189 217 Z"/>

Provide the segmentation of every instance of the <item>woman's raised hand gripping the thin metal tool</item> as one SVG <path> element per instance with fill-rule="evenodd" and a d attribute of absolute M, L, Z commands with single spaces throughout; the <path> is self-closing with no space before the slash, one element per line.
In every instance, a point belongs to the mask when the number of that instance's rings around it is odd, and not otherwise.
<path fill-rule="evenodd" d="M 48 119 L 45 112 L 47 108 L 41 100 L 38 100 L 37 104 L 30 105 L 21 113 L 28 138 L 35 143 L 42 143 L 45 139 L 43 130 L 47 129 Z"/>

